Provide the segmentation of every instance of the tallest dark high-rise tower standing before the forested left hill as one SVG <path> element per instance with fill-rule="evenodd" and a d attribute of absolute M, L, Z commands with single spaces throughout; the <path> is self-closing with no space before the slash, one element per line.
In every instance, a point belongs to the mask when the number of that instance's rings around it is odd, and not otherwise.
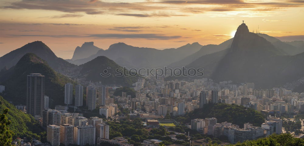
<path fill-rule="evenodd" d="M 40 73 L 27 75 L 26 113 L 42 116 L 45 78 Z"/>

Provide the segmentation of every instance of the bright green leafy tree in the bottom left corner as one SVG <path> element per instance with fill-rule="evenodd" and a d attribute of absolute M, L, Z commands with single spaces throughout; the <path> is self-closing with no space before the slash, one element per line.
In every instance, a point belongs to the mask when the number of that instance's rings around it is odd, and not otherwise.
<path fill-rule="evenodd" d="M 3 110 L 0 115 L 0 145 L 10 146 L 12 145 L 14 132 L 9 130 L 9 124 L 11 121 L 7 119 L 8 108 Z"/>

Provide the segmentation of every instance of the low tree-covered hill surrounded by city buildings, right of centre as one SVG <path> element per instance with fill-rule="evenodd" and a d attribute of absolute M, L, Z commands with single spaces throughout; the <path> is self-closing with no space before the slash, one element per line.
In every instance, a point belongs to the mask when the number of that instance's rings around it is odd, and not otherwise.
<path fill-rule="evenodd" d="M 244 123 L 247 122 L 254 126 L 261 126 L 264 122 L 264 116 L 260 112 L 235 104 L 205 104 L 202 109 L 195 109 L 185 116 L 178 116 L 175 119 L 181 123 L 189 123 L 191 119 L 208 117 L 216 117 L 218 123 L 227 121 L 237 124 L 240 128 L 244 127 Z"/>

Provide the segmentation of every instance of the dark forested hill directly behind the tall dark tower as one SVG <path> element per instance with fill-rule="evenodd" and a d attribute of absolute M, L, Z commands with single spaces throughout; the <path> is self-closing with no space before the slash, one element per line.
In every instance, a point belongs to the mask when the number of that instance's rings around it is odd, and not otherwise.
<path fill-rule="evenodd" d="M 41 73 L 45 76 L 45 95 L 50 97 L 49 105 L 64 104 L 64 85 L 75 82 L 54 71 L 48 63 L 33 53 L 26 53 L 16 66 L 0 72 L 0 84 L 5 86 L 5 99 L 14 104 L 26 102 L 26 78 L 30 73 Z"/>

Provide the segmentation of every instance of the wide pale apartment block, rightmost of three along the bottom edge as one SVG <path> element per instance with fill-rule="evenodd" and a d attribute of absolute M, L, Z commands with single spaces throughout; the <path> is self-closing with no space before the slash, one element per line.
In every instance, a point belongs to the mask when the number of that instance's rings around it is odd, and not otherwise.
<path fill-rule="evenodd" d="M 74 144 L 81 146 L 94 145 L 95 132 L 95 127 L 92 125 L 74 127 Z"/>

